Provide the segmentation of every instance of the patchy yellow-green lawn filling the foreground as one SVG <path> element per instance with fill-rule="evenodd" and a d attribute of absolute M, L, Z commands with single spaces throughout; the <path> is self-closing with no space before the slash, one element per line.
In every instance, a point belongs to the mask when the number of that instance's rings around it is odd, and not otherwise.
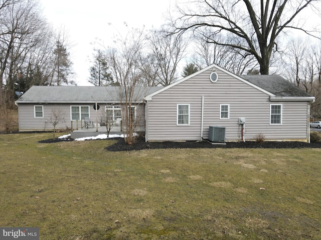
<path fill-rule="evenodd" d="M 40 239 L 321 239 L 320 148 L 145 149 L 0 135 L 0 226 Z"/>

